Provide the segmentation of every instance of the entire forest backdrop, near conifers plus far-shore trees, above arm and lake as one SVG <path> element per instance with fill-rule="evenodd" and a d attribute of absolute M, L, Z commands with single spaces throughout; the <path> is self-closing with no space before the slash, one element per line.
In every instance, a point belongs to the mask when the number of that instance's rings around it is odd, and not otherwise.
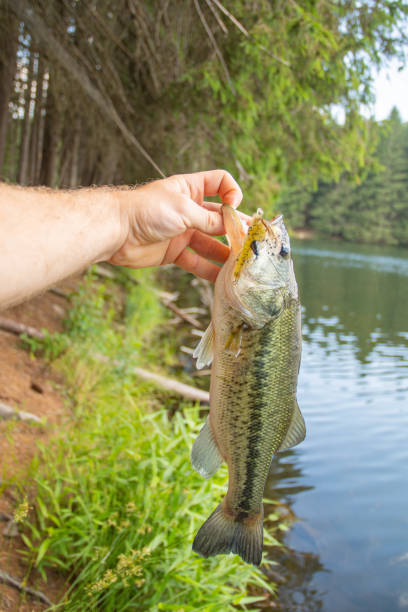
<path fill-rule="evenodd" d="M 360 107 L 373 68 L 403 62 L 407 12 L 389 1 L 2 0 L 0 176 L 66 188 L 225 167 L 249 210 L 272 213 L 281 198 L 292 228 L 406 244 L 406 128 Z"/>

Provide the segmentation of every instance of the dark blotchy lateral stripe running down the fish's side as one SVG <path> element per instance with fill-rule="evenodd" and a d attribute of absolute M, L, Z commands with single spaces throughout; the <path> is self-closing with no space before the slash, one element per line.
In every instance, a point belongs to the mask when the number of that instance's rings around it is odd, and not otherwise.
<path fill-rule="evenodd" d="M 241 502 L 239 504 L 240 511 L 249 511 L 253 498 L 254 486 L 256 484 L 257 462 L 256 459 L 260 456 L 259 443 L 261 441 L 262 432 L 262 411 L 267 408 L 267 401 L 261 399 L 262 394 L 259 393 L 260 388 L 266 382 L 265 365 L 268 358 L 266 350 L 270 343 L 270 334 L 259 334 L 257 351 L 253 357 L 253 380 L 248 390 L 248 398 L 251 401 L 249 410 L 249 436 L 247 446 L 247 458 L 245 462 L 245 481 L 241 492 Z"/>

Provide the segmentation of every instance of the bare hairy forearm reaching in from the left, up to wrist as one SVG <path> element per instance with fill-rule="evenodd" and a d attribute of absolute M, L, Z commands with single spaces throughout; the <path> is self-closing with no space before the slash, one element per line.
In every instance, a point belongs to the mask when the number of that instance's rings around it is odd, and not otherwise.
<path fill-rule="evenodd" d="M 115 190 L 0 183 L 0 308 L 109 259 L 123 240 Z"/>

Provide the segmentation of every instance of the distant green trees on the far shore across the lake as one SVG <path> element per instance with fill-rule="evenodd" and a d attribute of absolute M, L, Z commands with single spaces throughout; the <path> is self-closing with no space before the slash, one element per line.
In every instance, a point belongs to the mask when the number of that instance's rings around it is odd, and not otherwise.
<path fill-rule="evenodd" d="M 292 227 L 310 227 L 351 242 L 408 245 L 408 124 L 396 110 L 378 128 L 377 167 L 362 181 L 344 174 L 321 181 L 316 191 L 301 184 L 278 203 Z"/>

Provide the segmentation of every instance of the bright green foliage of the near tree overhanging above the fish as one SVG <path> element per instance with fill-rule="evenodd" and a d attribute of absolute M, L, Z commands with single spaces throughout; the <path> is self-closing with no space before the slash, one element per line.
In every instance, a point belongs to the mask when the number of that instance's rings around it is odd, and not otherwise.
<path fill-rule="evenodd" d="M 276 199 L 279 183 L 313 187 L 344 171 L 361 176 L 375 130 L 359 105 L 371 100 L 372 62 L 397 52 L 397 24 L 407 8 L 315 0 L 235 0 L 228 8 L 248 36 L 231 28 L 217 37 L 232 87 L 216 55 L 199 67 L 198 81 L 191 75 L 187 97 L 206 105 L 199 109 L 200 151 L 234 173 L 238 168 L 253 209 Z M 344 125 L 334 119 L 335 106 L 345 111 Z M 197 112 L 185 108 L 188 123 Z"/>

